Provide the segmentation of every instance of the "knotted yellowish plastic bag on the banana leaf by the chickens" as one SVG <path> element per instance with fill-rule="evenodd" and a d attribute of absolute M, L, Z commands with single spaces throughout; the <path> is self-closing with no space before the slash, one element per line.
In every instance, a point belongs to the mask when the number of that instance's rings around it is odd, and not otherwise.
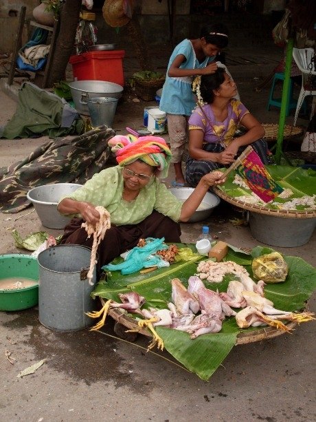
<path fill-rule="evenodd" d="M 273 252 L 255 258 L 252 271 L 256 279 L 265 283 L 280 283 L 285 281 L 289 267 L 280 253 Z"/>

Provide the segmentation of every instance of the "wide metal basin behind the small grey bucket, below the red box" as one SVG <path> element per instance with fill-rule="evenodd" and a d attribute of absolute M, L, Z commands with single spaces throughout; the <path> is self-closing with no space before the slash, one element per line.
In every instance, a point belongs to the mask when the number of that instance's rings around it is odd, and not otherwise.
<path fill-rule="evenodd" d="M 120 99 L 123 91 L 121 85 L 106 81 L 74 81 L 69 87 L 77 112 L 86 116 L 89 116 L 89 99 L 99 96 Z"/>

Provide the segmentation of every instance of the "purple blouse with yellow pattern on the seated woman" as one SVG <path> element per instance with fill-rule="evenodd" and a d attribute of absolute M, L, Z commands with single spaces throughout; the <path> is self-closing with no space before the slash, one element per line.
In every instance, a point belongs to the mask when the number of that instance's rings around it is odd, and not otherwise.
<path fill-rule="evenodd" d="M 221 142 L 225 143 L 225 145 L 229 145 L 229 143 L 233 140 L 240 121 L 245 114 L 249 113 L 249 110 L 245 107 L 245 105 L 235 98 L 232 98 L 229 102 L 228 115 L 223 122 L 218 122 L 215 119 L 210 104 L 203 105 L 202 108 L 208 119 L 206 120 L 205 116 L 201 112 L 201 109 L 196 107 L 189 119 L 189 130 L 202 129 L 204 132 L 203 142 L 205 143 Z M 208 120 L 211 121 L 212 126 Z"/>

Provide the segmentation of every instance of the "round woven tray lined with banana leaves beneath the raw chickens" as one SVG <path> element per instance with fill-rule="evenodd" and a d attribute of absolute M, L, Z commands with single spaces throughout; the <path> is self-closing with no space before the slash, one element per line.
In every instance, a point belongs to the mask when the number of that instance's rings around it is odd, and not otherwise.
<path fill-rule="evenodd" d="M 178 244 L 177 246 L 180 253 L 176 255 L 175 262 L 168 267 L 157 268 L 150 272 L 137 271 L 129 275 L 122 275 L 120 271 L 107 271 L 105 279 L 96 286 L 92 296 L 99 297 L 102 305 L 108 304 L 110 306 L 109 315 L 126 326 L 126 329 L 135 330 L 151 337 L 152 332 L 142 324 L 144 316 L 139 315 L 138 311 L 133 313 L 131 310 L 124 310 L 116 304 L 120 304 L 122 295 L 133 292 L 144 299 L 139 304 L 139 308 L 146 310 L 152 308 L 151 312 L 153 312 L 153 308 L 166 310 L 168 304 L 172 300 L 174 301 L 174 279 L 178 279 L 185 288 L 188 288 L 190 277 L 196 274 L 202 277 L 199 272 L 199 263 L 207 258 L 196 255 L 195 246 L 192 244 Z M 181 253 L 188 249 L 192 251 L 192 255 Z M 243 268 L 242 271 L 247 271 L 251 279 L 254 279 L 251 268 L 253 260 L 272 251 L 272 249 L 257 246 L 251 253 L 246 253 L 232 246 L 229 247 L 223 262 L 235 263 Z M 310 313 L 300 314 L 300 312 L 306 309 L 308 298 L 315 288 L 316 270 L 299 257 L 286 256 L 284 260 L 289 268 L 285 282 L 264 286 L 264 297 L 271 301 L 275 308 L 295 315 L 287 322 L 284 320 L 282 328 L 278 328 L 277 323 L 273 323 L 273 327 L 240 328 L 236 323 L 236 316 L 232 315 L 223 319 L 221 330 L 218 332 L 198 335 L 193 339 L 192 333 L 170 328 L 170 326 L 155 326 L 155 333 L 163 342 L 164 348 L 185 368 L 195 372 L 201 379 L 208 380 L 234 346 L 281 335 L 293 329 L 297 322 L 312 319 L 313 316 Z M 122 258 L 117 258 L 113 263 L 117 264 L 117 262 L 122 262 Z M 195 279 L 197 278 L 195 277 Z M 236 273 L 230 272 L 225 273 L 221 282 L 203 279 L 203 284 L 214 295 L 218 292 L 221 297 L 224 297 L 223 294 L 225 295 L 227 292 L 229 282 L 234 279 L 236 279 Z M 111 302 L 115 304 L 113 308 L 111 308 Z M 234 308 L 234 311 L 237 311 L 238 315 L 240 309 Z M 94 315 L 101 316 L 101 313 L 94 313 Z M 305 316 L 298 317 L 298 315 Z M 139 323 L 139 321 L 141 322 Z M 97 325 L 98 328 L 102 327 L 102 324 Z M 159 341 L 157 345 L 161 348 Z"/>

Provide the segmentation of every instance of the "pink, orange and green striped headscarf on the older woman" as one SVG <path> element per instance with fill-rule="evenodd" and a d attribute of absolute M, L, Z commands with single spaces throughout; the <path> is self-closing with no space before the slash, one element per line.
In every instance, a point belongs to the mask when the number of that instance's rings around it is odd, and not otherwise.
<path fill-rule="evenodd" d="M 159 177 L 166 178 L 171 160 L 171 151 L 166 140 L 159 136 L 117 135 L 109 140 L 109 146 L 116 154 L 120 166 L 142 160 L 146 164 L 157 167 Z"/>

